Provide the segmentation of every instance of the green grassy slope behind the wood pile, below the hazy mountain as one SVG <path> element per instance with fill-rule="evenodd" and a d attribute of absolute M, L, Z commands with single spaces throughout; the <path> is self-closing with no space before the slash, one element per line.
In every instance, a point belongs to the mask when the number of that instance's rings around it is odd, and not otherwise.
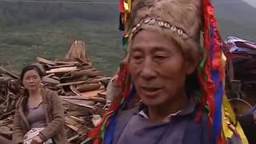
<path fill-rule="evenodd" d="M 1 32 L 0 64 L 11 65 L 11 69 L 19 71 L 36 56 L 62 58 L 70 42 L 82 39 L 87 44 L 94 66 L 111 75 L 123 55 L 119 48 L 121 37 L 117 27 L 113 23 L 86 20 L 12 26 Z"/>

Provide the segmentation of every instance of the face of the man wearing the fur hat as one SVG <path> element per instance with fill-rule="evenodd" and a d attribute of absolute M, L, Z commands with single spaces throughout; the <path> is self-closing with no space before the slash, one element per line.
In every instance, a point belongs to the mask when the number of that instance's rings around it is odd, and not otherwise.
<path fill-rule="evenodd" d="M 142 30 L 131 44 L 129 70 L 142 102 L 161 106 L 185 92 L 186 74 L 193 68 L 180 47 L 158 31 Z"/>

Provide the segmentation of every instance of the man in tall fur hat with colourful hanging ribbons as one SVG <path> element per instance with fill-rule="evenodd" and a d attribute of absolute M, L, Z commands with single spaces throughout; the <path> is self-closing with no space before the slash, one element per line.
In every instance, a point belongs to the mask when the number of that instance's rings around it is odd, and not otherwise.
<path fill-rule="evenodd" d="M 224 141 L 220 76 L 224 70 L 212 8 L 207 0 L 134 1 L 127 54 L 118 74 L 120 99 L 110 106 L 102 125 L 91 131 L 95 143 Z M 202 30 L 206 49 L 200 46 Z M 136 96 L 141 102 L 126 110 Z"/>

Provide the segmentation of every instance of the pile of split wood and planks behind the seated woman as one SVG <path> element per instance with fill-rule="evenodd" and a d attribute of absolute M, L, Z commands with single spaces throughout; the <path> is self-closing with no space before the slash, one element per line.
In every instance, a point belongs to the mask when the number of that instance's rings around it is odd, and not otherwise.
<path fill-rule="evenodd" d="M 106 106 L 106 85 L 110 80 L 100 76 L 87 54 L 81 54 L 86 53 L 81 43 L 75 41 L 62 60 L 38 57 L 34 63 L 46 74 L 42 78 L 43 85 L 57 91 L 63 100 L 71 143 L 90 142 L 87 134 L 101 120 Z M 0 135 L 6 138 L 11 138 L 15 102 L 21 97 L 19 83 L 17 75 L 0 69 Z"/>

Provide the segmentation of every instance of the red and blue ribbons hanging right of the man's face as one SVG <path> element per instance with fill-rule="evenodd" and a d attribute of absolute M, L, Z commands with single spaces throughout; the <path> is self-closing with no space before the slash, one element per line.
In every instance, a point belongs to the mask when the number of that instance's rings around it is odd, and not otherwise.
<path fill-rule="evenodd" d="M 222 96 L 223 75 L 221 38 L 218 33 L 218 23 L 214 17 L 214 7 L 210 0 L 202 0 L 204 14 L 204 46 L 206 50 L 206 62 L 199 76 L 203 86 L 203 94 L 206 97 L 206 105 L 209 106 L 210 127 L 213 128 L 215 142 L 224 142 L 222 138 Z M 199 75 L 200 75 L 199 74 Z"/>

